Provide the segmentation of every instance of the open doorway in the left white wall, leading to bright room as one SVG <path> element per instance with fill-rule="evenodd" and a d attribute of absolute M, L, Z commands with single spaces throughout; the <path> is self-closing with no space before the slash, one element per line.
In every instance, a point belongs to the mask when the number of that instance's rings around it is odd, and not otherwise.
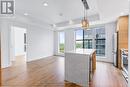
<path fill-rule="evenodd" d="M 26 63 L 26 28 L 11 27 L 10 58 L 13 65 Z"/>

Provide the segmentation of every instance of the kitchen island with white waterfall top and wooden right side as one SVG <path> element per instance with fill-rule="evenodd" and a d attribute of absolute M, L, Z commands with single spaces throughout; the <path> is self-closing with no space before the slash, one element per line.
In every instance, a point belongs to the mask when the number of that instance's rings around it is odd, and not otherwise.
<path fill-rule="evenodd" d="M 96 69 L 96 50 L 78 49 L 65 53 L 65 80 L 89 87 Z"/>

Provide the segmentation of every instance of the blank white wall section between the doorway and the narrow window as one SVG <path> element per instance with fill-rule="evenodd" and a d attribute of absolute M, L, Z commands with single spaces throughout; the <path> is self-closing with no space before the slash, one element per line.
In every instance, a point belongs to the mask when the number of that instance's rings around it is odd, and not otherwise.
<path fill-rule="evenodd" d="M 53 55 L 54 31 L 36 26 L 28 27 L 27 31 L 27 61 L 32 61 Z"/>

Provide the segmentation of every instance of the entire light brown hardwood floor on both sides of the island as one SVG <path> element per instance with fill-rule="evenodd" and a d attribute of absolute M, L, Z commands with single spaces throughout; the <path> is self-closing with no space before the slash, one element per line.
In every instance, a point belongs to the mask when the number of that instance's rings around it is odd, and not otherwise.
<path fill-rule="evenodd" d="M 25 63 L 21 57 L 10 68 L 2 69 L 0 87 L 81 87 L 64 81 L 64 58 L 49 57 Z M 97 62 L 90 87 L 127 87 L 112 64 Z"/>

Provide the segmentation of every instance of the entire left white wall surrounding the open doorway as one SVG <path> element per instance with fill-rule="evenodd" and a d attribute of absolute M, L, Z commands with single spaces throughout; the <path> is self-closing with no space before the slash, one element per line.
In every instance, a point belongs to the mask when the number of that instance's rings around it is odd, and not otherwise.
<path fill-rule="evenodd" d="M 2 68 L 9 67 L 12 61 L 11 55 L 11 26 L 27 29 L 27 60 L 36 60 L 53 55 L 53 31 L 46 24 L 37 24 L 20 17 L 18 20 L 0 19 Z"/>

